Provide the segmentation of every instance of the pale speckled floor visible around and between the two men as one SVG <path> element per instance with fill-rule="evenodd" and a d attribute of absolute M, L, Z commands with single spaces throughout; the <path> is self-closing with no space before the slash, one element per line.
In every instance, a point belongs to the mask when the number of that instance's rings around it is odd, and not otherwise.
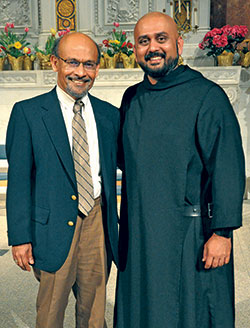
<path fill-rule="evenodd" d="M 0 195 L 1 196 L 1 195 Z M 38 283 L 32 273 L 21 271 L 7 246 L 4 201 L 0 197 L 0 327 L 33 328 Z M 244 226 L 235 232 L 236 328 L 250 327 L 250 201 L 244 203 Z M 107 295 L 107 324 L 112 327 L 116 270 L 112 269 Z M 74 327 L 71 295 L 65 327 Z M 227 328 L 227 327 L 225 327 Z"/>

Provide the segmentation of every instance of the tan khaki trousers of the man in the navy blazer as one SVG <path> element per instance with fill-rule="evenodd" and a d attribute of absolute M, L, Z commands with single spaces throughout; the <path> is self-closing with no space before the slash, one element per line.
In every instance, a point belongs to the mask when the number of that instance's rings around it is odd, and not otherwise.
<path fill-rule="evenodd" d="M 55 273 L 34 268 L 40 282 L 36 328 L 62 328 L 68 297 L 76 297 L 76 327 L 102 328 L 104 322 L 107 259 L 100 198 L 89 215 L 77 217 L 70 252 Z"/>

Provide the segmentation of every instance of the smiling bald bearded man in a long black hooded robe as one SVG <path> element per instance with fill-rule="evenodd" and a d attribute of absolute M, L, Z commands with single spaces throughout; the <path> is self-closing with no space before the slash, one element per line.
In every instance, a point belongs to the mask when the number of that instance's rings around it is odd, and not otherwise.
<path fill-rule="evenodd" d="M 218 85 L 178 66 L 172 18 L 149 13 L 134 36 L 145 77 L 121 105 L 115 327 L 232 328 L 245 182 L 237 119 Z"/>

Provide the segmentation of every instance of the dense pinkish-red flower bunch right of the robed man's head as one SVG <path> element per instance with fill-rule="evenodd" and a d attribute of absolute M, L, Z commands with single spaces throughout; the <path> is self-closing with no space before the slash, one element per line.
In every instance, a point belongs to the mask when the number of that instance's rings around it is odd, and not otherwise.
<path fill-rule="evenodd" d="M 245 25 L 225 25 L 222 28 L 214 28 L 207 32 L 199 48 L 202 50 L 209 49 L 207 56 L 219 56 L 223 51 L 234 53 L 237 45 L 241 43 L 248 29 Z"/>

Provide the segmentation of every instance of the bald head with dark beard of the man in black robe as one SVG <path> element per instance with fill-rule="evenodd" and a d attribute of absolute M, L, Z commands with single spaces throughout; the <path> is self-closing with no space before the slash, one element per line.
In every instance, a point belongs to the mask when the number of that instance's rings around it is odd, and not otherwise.
<path fill-rule="evenodd" d="M 146 14 L 137 22 L 134 38 L 137 62 L 151 83 L 176 67 L 183 40 L 170 16 L 160 12 Z"/>

